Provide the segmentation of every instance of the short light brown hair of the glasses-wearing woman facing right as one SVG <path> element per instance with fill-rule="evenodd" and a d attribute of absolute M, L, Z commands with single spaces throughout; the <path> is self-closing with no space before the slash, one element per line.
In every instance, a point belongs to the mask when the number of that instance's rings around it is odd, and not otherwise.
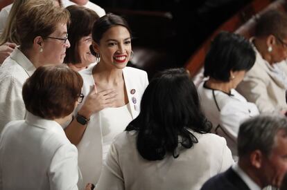
<path fill-rule="evenodd" d="M 58 23 L 69 22 L 69 11 L 56 7 L 53 1 L 30 0 L 16 16 L 16 30 L 21 49 L 31 48 L 35 37 L 43 39 L 55 31 Z"/>

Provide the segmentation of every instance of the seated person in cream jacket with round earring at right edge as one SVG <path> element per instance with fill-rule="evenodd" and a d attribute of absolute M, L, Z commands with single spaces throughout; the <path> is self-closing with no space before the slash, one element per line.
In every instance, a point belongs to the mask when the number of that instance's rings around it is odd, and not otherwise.
<path fill-rule="evenodd" d="M 254 102 L 261 113 L 285 113 L 287 15 L 278 10 L 261 15 L 250 41 L 256 52 L 256 61 L 236 89 L 248 101 Z"/>

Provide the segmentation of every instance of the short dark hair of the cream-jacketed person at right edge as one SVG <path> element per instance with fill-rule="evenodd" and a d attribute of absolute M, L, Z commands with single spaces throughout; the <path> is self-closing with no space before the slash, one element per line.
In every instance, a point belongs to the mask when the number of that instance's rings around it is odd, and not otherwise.
<path fill-rule="evenodd" d="M 269 10 L 256 20 L 255 36 L 275 35 L 281 39 L 287 37 L 287 15 L 279 10 Z"/>

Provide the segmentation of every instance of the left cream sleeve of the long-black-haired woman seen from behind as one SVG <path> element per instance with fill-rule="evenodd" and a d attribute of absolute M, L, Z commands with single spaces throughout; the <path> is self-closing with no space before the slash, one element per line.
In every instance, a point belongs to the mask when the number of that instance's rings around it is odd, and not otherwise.
<path fill-rule="evenodd" d="M 124 190 L 123 173 L 119 164 L 119 153 L 114 143 L 103 164 L 101 177 L 96 185 L 96 190 Z"/>

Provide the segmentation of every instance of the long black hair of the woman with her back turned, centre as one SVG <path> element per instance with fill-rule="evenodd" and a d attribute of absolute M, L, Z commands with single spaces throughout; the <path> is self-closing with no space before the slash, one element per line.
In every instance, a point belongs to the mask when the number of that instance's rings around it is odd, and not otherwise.
<path fill-rule="evenodd" d="M 141 99 L 141 112 L 127 131 L 138 131 L 137 149 L 146 160 L 177 158 L 177 146 L 197 142 L 192 132 L 208 133 L 211 124 L 200 109 L 196 88 L 184 68 L 164 70 L 150 82 Z"/>

